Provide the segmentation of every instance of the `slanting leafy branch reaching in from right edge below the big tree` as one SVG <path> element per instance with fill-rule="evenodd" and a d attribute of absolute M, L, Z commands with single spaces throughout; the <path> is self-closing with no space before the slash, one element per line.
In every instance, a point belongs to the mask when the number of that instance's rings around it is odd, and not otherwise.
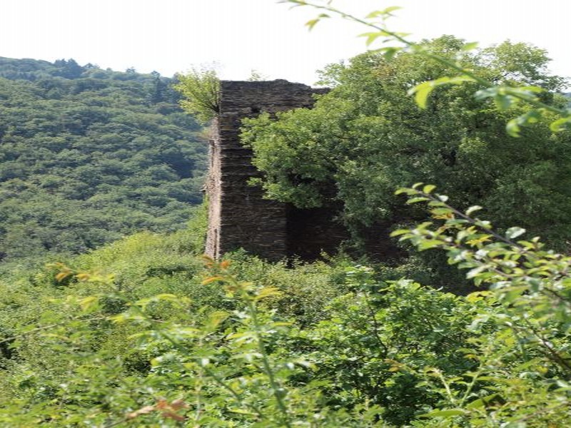
<path fill-rule="evenodd" d="M 433 193 L 434 185 L 421 186 L 397 193 L 408 195 L 408 203 L 427 203 L 439 223 L 395 230 L 392 236 L 410 241 L 418 250 L 445 250 L 448 263 L 470 269 L 467 277 L 477 285 L 489 283 L 490 291 L 484 294 L 503 307 L 497 321 L 522 333 L 521 342 L 533 338 L 546 357 L 571 373 L 569 358 L 552 343 L 554 328 L 565 334 L 571 330 L 571 257 L 543 250 L 539 238 L 515 241 L 525 233 L 522 228 L 509 228 L 501 235 L 489 221 L 472 216 L 481 207 L 462 213 L 446 203 L 448 197 Z"/>

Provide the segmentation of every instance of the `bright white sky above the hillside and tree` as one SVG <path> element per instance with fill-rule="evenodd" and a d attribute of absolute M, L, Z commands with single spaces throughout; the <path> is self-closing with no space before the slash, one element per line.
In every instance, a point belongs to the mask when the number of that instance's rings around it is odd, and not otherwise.
<path fill-rule="evenodd" d="M 571 0 L 334 0 L 365 16 L 403 6 L 390 29 L 412 39 L 454 34 L 481 46 L 505 39 L 547 49 L 553 72 L 571 76 Z M 74 58 L 124 71 L 171 76 L 219 63 L 223 78 L 256 69 L 314 83 L 315 70 L 365 50 L 366 31 L 340 19 L 308 31 L 316 11 L 277 0 L 0 0 L 0 56 Z"/>

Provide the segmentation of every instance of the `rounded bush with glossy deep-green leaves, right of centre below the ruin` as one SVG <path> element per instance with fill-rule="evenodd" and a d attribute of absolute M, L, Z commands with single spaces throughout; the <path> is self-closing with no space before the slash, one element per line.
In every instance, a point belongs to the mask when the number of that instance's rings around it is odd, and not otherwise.
<path fill-rule="evenodd" d="M 308 378 L 323 382 L 328 406 L 366 401 L 385 423 L 401 426 L 438 396 L 399 365 L 431 365 L 450 375 L 470 370 L 473 361 L 459 350 L 481 331 L 466 329 L 466 320 L 491 309 L 410 280 L 380 281 L 368 267 L 349 267 L 346 275 L 350 292 L 330 301 L 328 318 L 285 348 L 304 350 L 315 365 Z"/>

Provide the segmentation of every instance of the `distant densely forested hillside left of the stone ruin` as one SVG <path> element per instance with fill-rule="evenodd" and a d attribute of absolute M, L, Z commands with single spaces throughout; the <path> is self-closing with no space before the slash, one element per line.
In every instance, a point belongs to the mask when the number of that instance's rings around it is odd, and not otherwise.
<path fill-rule="evenodd" d="M 81 253 L 185 225 L 206 145 L 171 80 L 0 58 L 0 256 Z"/>

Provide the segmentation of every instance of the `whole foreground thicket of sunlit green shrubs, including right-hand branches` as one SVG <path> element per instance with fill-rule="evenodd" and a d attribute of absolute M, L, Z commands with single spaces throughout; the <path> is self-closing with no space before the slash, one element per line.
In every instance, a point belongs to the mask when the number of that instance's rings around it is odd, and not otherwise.
<path fill-rule="evenodd" d="M 402 191 L 442 224 L 395 235 L 446 250 L 490 290 L 458 297 L 349 260 L 288 269 L 236 253 L 205 269 L 181 233 L 4 285 L 0 421 L 565 426 L 569 258 L 433 189 Z"/>

